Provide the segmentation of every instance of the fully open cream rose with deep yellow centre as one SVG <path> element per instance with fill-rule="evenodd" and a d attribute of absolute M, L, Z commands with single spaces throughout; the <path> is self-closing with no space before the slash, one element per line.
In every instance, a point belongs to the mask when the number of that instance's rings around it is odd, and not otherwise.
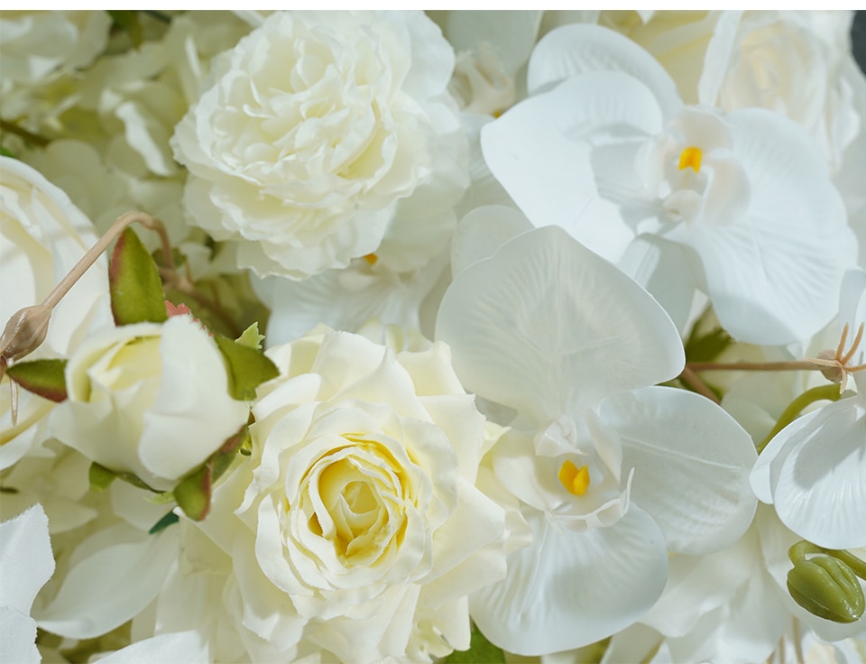
<path fill-rule="evenodd" d="M 195 523 L 221 551 L 187 537 L 188 571 L 167 582 L 158 622 L 205 625 L 177 604 L 207 586 L 230 616 L 212 624 L 235 624 L 242 659 L 429 661 L 469 647 L 466 595 L 504 575 L 504 513 L 475 487 L 492 429 L 447 346 L 426 346 L 395 354 L 323 326 L 268 352 L 281 377 L 253 405 L 253 463 Z"/>

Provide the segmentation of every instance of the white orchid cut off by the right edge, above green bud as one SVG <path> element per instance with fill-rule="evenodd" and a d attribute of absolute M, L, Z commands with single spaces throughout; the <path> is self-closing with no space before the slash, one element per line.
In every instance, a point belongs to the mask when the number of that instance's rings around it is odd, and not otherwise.
<path fill-rule="evenodd" d="M 852 374 L 857 395 L 794 420 L 751 474 L 754 492 L 776 506 L 788 528 L 828 549 L 866 546 L 866 272 L 845 275 L 839 317 L 843 338 L 835 361 L 843 380 Z"/>

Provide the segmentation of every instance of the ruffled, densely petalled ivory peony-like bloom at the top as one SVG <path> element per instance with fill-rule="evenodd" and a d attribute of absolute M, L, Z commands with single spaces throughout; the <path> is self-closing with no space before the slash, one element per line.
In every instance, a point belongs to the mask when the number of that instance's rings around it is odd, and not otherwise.
<path fill-rule="evenodd" d="M 214 63 L 175 128 L 192 220 L 260 275 L 377 252 L 404 272 L 447 242 L 465 141 L 454 52 L 421 13 L 278 13 Z M 401 226 L 408 226 L 410 231 Z M 410 237 L 407 237 L 409 235 Z"/>

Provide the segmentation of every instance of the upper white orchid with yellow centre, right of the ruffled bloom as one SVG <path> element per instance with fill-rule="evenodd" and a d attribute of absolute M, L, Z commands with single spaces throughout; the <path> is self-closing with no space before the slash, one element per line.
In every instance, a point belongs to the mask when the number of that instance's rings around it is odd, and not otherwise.
<path fill-rule="evenodd" d="M 622 259 L 679 323 L 696 286 L 751 343 L 810 337 L 833 317 L 857 245 L 797 124 L 684 106 L 659 62 L 594 25 L 549 32 L 528 79 L 533 96 L 484 127 L 482 148 L 535 226 Z"/>

